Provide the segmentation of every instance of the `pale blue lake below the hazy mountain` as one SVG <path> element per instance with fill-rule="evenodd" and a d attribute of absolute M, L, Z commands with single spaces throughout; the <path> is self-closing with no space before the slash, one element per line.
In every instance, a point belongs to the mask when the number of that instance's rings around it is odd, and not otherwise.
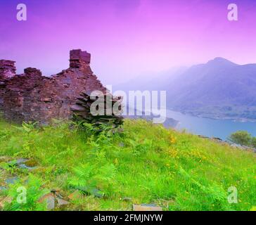
<path fill-rule="evenodd" d="M 200 134 L 209 137 L 214 136 L 226 140 L 231 133 L 238 130 L 245 130 L 252 134 L 252 136 L 256 136 L 256 122 L 213 120 L 185 115 L 172 110 L 167 110 L 167 117 L 179 121 L 175 129 L 186 129 L 186 131 L 192 134 Z"/>

